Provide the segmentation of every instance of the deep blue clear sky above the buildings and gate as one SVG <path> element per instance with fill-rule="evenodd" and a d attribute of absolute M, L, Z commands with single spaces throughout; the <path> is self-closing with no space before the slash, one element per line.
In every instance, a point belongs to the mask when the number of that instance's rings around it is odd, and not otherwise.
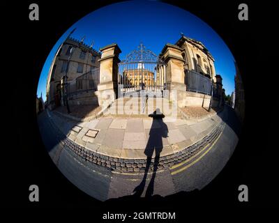
<path fill-rule="evenodd" d="M 94 41 L 94 49 L 117 43 L 122 51 L 120 59 L 124 59 L 126 54 L 136 49 L 141 42 L 158 55 L 166 43 L 176 43 L 182 32 L 184 36 L 201 41 L 209 49 L 215 59 L 216 74 L 223 77 L 226 94 L 234 91 L 234 57 L 209 25 L 186 10 L 167 3 L 125 1 L 89 13 L 59 38 L 47 56 L 38 82 L 37 94 L 40 96 L 42 92 L 44 100 L 47 73 L 54 54 L 74 28 L 77 29 L 72 37 L 81 40 L 85 36 L 84 43 L 91 45 Z"/>

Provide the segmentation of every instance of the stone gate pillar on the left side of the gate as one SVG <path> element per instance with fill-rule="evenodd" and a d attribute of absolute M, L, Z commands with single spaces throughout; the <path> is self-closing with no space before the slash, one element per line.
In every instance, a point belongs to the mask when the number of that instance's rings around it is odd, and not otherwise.
<path fill-rule="evenodd" d="M 98 84 L 98 103 L 107 107 L 117 98 L 118 63 L 121 49 L 115 43 L 100 49 L 102 52 L 100 62 L 100 84 Z"/>

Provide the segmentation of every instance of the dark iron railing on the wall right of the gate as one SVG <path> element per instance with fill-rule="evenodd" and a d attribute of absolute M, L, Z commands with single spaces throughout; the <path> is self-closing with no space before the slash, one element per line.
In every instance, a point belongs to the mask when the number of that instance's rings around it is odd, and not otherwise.
<path fill-rule="evenodd" d="M 193 70 L 186 73 L 186 91 L 194 91 L 211 95 L 212 82 L 208 77 L 199 74 Z"/>

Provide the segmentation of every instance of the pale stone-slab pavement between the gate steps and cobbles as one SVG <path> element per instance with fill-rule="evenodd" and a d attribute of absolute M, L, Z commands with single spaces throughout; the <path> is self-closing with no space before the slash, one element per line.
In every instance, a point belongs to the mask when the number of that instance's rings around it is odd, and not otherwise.
<path fill-rule="evenodd" d="M 135 118 L 133 116 L 103 116 L 91 121 L 74 121 L 57 112 L 48 112 L 53 123 L 67 137 L 65 143 L 80 155 L 88 155 L 88 159 L 96 164 L 112 167 L 116 162 L 123 164 L 123 170 L 137 165 L 133 171 L 140 171 L 146 161 L 146 148 L 150 144 L 150 132 L 165 131 L 166 137 L 161 139 L 160 162 L 171 163 L 181 159 L 181 155 L 189 151 L 197 151 L 201 141 L 208 141 L 213 132 L 218 132 L 222 123 L 222 114 L 216 114 L 203 121 L 184 120 L 165 117 L 160 121 L 149 116 Z M 154 142 L 154 145 L 156 142 Z M 156 150 L 152 151 L 156 157 Z M 184 156 L 183 156 L 184 157 Z M 177 158 L 177 159 L 176 159 Z M 167 159 L 172 159 L 166 162 Z M 110 162 L 109 162 L 110 161 Z M 103 164 L 104 163 L 104 164 Z M 135 164 L 134 164 L 135 165 Z M 119 166 L 118 170 L 122 170 Z M 131 169 L 130 169 L 131 170 Z"/>

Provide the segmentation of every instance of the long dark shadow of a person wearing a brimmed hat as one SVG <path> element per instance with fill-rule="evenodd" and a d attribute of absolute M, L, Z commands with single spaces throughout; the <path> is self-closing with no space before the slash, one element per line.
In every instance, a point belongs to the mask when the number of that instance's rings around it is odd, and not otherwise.
<path fill-rule="evenodd" d="M 154 190 L 154 180 L 156 177 L 156 171 L 158 169 L 160 159 L 160 153 L 163 150 L 163 138 L 166 138 L 168 133 L 167 125 L 163 122 L 163 118 L 165 116 L 160 112 L 160 109 L 157 108 L 156 111 L 154 111 L 153 114 L 149 114 L 149 116 L 153 118 L 153 121 L 149 132 L 149 139 L 144 150 L 144 154 L 146 155 L 146 167 L 144 170 L 144 177 L 142 178 L 142 182 L 133 190 L 133 195 L 136 197 L 140 197 L 142 195 L 142 192 L 144 192 L 147 174 L 149 172 L 149 168 L 153 165 L 153 172 L 149 185 L 146 189 L 145 197 L 152 196 Z M 154 162 L 152 163 L 153 155 L 155 155 L 155 157 Z"/>

